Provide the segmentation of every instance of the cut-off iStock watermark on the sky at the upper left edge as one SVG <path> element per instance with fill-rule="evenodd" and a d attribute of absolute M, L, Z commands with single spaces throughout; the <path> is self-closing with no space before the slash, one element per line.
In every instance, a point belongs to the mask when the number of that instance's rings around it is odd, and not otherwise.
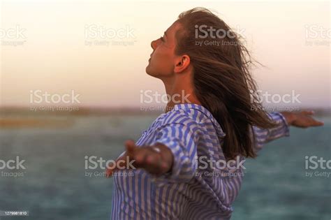
<path fill-rule="evenodd" d="M 17 24 L 15 27 L 7 29 L 0 28 L 0 45 L 1 46 L 21 46 L 26 43 L 26 32 L 27 29 L 20 27 Z"/>

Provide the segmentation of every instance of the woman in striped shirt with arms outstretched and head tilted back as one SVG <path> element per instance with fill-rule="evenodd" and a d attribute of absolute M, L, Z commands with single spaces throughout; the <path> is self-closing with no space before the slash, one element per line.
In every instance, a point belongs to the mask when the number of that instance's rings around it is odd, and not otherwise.
<path fill-rule="evenodd" d="M 126 142 L 118 161 L 136 169 L 107 170 L 112 219 L 230 219 L 244 159 L 289 135 L 290 125 L 323 123 L 312 112 L 267 114 L 251 96 L 247 49 L 205 8 L 179 15 L 151 45 L 146 72 L 176 98 L 137 142 Z"/>

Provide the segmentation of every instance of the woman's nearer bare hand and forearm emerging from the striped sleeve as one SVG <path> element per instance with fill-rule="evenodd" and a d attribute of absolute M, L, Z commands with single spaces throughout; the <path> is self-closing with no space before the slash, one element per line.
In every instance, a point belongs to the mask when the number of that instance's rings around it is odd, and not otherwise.
<path fill-rule="evenodd" d="M 173 156 L 168 147 L 161 143 L 152 146 L 138 147 L 132 140 L 125 142 L 126 152 L 116 160 L 116 164 L 122 161 L 122 164 L 131 164 L 134 168 L 144 168 L 147 172 L 154 175 L 168 173 L 172 168 Z M 107 168 L 105 174 L 107 177 L 121 168 Z"/>

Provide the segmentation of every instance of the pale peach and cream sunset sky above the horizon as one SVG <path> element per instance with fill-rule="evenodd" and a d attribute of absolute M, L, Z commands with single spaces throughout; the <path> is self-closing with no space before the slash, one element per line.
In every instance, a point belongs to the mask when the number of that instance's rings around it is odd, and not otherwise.
<path fill-rule="evenodd" d="M 148 105 L 142 92 L 165 94 L 145 73 L 150 42 L 197 6 L 242 34 L 263 64 L 252 71 L 267 105 L 330 107 L 330 1 L 29 0 L 0 4 L 0 106 L 39 104 L 45 93 L 79 95 L 74 105 Z"/>

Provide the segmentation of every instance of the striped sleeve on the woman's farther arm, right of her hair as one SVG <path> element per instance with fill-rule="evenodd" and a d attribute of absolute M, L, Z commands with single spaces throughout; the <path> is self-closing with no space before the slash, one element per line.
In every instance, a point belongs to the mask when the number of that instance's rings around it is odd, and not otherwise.
<path fill-rule="evenodd" d="M 277 126 L 272 129 L 261 129 L 257 126 L 252 126 L 253 147 L 255 152 L 258 152 L 263 148 L 265 143 L 270 142 L 271 140 L 290 135 L 286 119 L 280 112 L 271 112 L 268 113 L 268 115 Z"/>

